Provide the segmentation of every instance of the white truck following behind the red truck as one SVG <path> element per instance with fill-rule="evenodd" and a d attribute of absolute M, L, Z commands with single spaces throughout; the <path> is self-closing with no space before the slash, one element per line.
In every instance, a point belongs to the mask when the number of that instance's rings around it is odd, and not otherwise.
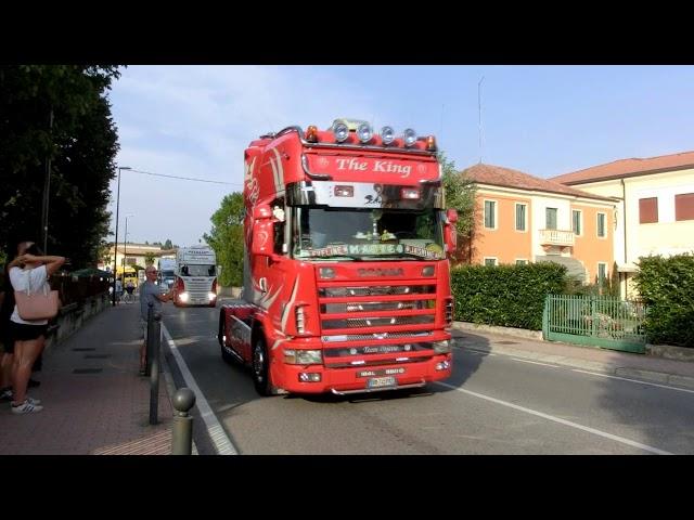
<path fill-rule="evenodd" d="M 176 251 L 174 303 L 217 307 L 217 258 L 210 247 L 181 247 Z"/>

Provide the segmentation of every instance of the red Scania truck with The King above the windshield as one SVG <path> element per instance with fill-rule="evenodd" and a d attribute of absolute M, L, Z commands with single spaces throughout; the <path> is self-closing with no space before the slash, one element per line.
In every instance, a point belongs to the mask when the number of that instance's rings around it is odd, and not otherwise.
<path fill-rule="evenodd" d="M 451 375 L 453 298 L 434 136 L 290 127 L 244 153 L 244 286 L 220 310 L 256 390 L 348 394 Z"/>

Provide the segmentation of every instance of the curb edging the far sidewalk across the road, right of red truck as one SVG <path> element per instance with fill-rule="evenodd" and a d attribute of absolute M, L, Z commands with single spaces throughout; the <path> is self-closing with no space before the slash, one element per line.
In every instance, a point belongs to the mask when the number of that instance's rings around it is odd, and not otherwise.
<path fill-rule="evenodd" d="M 657 382 L 660 385 L 670 385 L 672 387 L 684 387 L 694 389 L 694 377 L 679 376 L 674 374 L 667 374 L 656 370 L 644 370 L 641 368 L 629 368 L 624 366 L 617 366 L 612 363 L 601 363 L 599 361 L 583 361 L 575 358 L 566 358 L 564 355 L 543 354 L 538 352 L 528 352 L 526 350 L 509 349 L 503 347 L 484 347 L 475 346 L 474 348 L 463 347 L 459 342 L 461 338 L 453 338 L 454 346 L 459 349 L 465 348 L 466 350 L 485 352 L 485 353 L 499 353 L 505 355 L 513 355 L 515 358 L 523 358 L 526 360 L 540 361 L 543 363 L 554 363 L 557 365 L 573 366 L 575 368 L 581 368 L 583 370 L 602 372 L 603 374 L 614 375 L 617 377 L 628 377 L 643 379 L 648 382 Z"/>

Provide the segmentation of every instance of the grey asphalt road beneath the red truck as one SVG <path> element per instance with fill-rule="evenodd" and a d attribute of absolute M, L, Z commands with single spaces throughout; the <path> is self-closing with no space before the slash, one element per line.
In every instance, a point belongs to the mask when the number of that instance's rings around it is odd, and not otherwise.
<path fill-rule="evenodd" d="M 221 360 L 218 318 L 165 306 L 177 351 L 240 454 L 694 453 L 694 391 L 478 352 L 480 335 L 426 390 L 260 398 L 246 369 Z"/>

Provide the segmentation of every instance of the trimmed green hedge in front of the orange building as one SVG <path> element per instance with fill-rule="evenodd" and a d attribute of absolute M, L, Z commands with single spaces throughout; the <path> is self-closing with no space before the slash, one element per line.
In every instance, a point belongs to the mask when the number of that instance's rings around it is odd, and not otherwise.
<path fill-rule="evenodd" d="M 454 318 L 540 330 L 545 297 L 562 294 L 565 275 L 564 265 L 551 262 L 458 266 L 451 272 Z"/>

